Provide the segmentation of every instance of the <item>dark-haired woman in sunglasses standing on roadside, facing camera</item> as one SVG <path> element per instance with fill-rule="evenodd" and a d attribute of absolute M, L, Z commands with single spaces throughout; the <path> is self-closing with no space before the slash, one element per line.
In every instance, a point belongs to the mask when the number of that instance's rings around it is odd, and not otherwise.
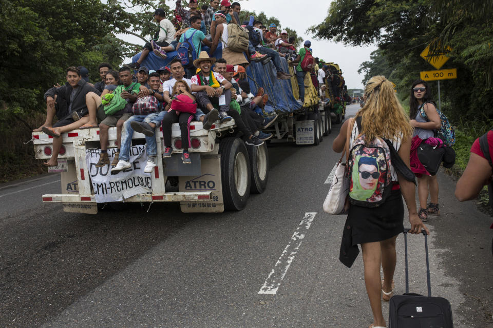
<path fill-rule="evenodd" d="M 421 108 L 424 109 L 427 118 L 423 118 Z M 413 146 L 417 148 L 421 140 L 433 137 L 436 129 L 442 126 L 440 116 L 438 115 L 435 103 L 431 100 L 428 84 L 423 80 L 416 80 L 412 84 L 411 97 L 409 99 L 409 118 L 411 127 L 414 128 L 412 133 Z M 411 165 L 411 170 L 418 178 L 418 196 L 420 199 L 420 210 L 418 215 L 422 221 L 428 220 L 428 215 L 440 215 L 438 207 L 438 180 L 437 176 L 430 175 L 424 167 Z M 428 201 L 430 194 L 430 202 Z"/>

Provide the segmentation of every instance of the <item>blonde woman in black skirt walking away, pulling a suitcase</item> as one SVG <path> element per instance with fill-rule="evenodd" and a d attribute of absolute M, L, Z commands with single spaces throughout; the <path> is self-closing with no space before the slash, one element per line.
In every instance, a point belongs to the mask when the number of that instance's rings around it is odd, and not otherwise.
<path fill-rule="evenodd" d="M 363 134 L 367 145 L 376 138 L 386 138 L 392 141 L 397 153 L 409 166 L 412 128 L 397 100 L 392 84 L 385 76 L 373 76 L 365 87 L 365 95 L 365 105 L 356 113 L 356 118 L 361 118 L 361 131 L 356 122 L 350 126 L 350 121 L 346 120 L 334 140 L 332 149 L 340 153 L 345 149 L 346 142 L 350 142 L 349 149 L 351 149 L 353 141 Z M 348 129 L 349 140 L 347 140 Z M 370 197 L 380 175 L 378 173 L 380 164 L 370 156 L 361 155 L 356 160 L 357 172 L 354 164 L 352 188 L 359 188 L 358 193 L 364 195 L 364 198 Z M 386 327 L 381 300 L 388 301 L 393 293 L 393 276 L 397 261 L 395 240 L 404 229 L 403 196 L 409 212 L 410 233 L 419 234 L 422 229 L 429 233 L 416 213 L 414 184 L 398 174 L 392 165 L 389 172 L 392 190 L 382 204 L 374 207 L 350 204 L 341 245 L 341 254 L 345 255 L 354 253 L 352 250 L 354 248 L 357 250 L 357 244 L 361 244 L 366 291 L 373 313 L 373 323 L 370 324 L 370 328 Z M 357 184 L 359 187 L 356 186 Z M 349 260 L 345 257 L 339 259 L 350 267 L 358 252 L 356 251 Z M 381 268 L 384 273 L 383 280 L 380 276 Z"/>

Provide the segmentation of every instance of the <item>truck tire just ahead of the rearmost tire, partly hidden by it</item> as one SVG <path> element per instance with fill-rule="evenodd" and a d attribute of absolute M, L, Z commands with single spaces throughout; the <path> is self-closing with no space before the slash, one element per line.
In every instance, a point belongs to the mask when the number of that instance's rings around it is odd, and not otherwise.
<path fill-rule="evenodd" d="M 250 176 L 252 182 L 250 192 L 261 194 L 267 188 L 267 178 L 269 177 L 269 152 L 266 142 L 259 147 L 247 146 L 250 157 Z"/>

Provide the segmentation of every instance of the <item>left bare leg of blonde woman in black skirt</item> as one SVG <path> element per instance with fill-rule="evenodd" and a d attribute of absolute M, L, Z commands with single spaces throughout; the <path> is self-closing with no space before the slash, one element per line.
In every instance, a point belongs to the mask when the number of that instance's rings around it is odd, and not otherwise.
<path fill-rule="evenodd" d="M 365 265 L 365 286 L 370 300 L 373 324 L 386 326 L 382 313 L 382 281 L 380 278 L 380 265 L 382 263 L 382 250 L 380 242 L 367 242 L 361 244 L 363 252 L 363 264 Z"/>

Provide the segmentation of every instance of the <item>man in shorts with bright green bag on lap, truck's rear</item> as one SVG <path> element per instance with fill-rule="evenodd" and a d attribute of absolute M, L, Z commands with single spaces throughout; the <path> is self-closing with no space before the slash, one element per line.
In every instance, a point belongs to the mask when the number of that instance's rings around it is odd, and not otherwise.
<path fill-rule="evenodd" d="M 101 144 L 101 155 L 96 167 L 103 167 L 109 165 L 109 158 L 107 154 L 108 144 L 108 130 L 110 127 L 117 127 L 117 152 L 115 158 L 111 162 L 111 166 L 116 166 L 120 155 L 120 145 L 122 139 L 123 123 L 133 115 L 132 106 L 134 106 L 137 100 L 137 95 L 141 89 L 140 83 L 132 82 L 132 74 L 128 67 L 122 67 L 119 70 L 120 84 L 123 85 L 124 91 L 121 93 L 121 97 L 125 99 L 125 108 L 112 115 L 106 115 L 106 117 L 99 124 L 99 140 Z M 142 86 L 142 89 L 147 89 Z"/>

